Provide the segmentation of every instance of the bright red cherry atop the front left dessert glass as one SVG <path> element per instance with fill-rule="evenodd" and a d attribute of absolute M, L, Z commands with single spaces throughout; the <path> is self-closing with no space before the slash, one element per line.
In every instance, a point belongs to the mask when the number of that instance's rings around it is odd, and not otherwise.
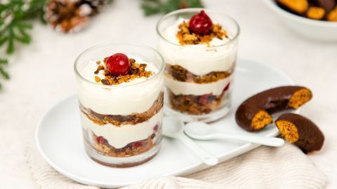
<path fill-rule="evenodd" d="M 128 57 L 122 53 L 114 54 L 107 59 L 107 70 L 114 76 L 125 75 L 130 71 L 130 67 Z"/>

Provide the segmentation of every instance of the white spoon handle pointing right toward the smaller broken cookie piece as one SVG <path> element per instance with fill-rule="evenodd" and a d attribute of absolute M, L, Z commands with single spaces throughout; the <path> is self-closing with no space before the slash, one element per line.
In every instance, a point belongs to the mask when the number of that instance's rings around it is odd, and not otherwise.
<path fill-rule="evenodd" d="M 247 141 L 255 144 L 263 144 L 265 146 L 282 146 L 284 144 L 283 139 L 279 139 L 276 137 L 260 137 L 253 136 L 248 134 L 225 134 L 218 133 L 214 134 L 214 137 L 218 139 L 234 139 L 239 141 Z"/>

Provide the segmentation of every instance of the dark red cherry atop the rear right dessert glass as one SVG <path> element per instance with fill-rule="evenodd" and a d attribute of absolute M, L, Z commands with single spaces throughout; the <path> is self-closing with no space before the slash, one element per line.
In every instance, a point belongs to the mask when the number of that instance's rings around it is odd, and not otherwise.
<path fill-rule="evenodd" d="M 209 15 L 205 13 L 204 10 L 201 10 L 200 13 L 194 15 L 190 19 L 190 29 L 195 34 L 207 35 L 209 34 L 209 31 L 211 31 L 212 26 L 213 22 L 211 18 L 209 18 Z"/>

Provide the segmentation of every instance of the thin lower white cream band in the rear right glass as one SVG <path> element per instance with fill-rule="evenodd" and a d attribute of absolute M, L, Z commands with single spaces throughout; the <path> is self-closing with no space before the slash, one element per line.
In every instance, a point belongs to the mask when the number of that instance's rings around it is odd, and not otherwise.
<path fill-rule="evenodd" d="M 213 93 L 213 95 L 220 95 L 223 89 L 230 83 L 232 76 L 218 80 L 212 83 L 186 83 L 179 80 L 174 80 L 171 77 L 165 77 L 166 86 L 173 92 L 173 94 L 183 95 L 204 95 Z"/>

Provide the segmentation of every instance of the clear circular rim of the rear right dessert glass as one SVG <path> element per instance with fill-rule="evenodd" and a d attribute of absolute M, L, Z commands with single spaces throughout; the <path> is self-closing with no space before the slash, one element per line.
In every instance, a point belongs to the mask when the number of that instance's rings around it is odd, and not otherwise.
<path fill-rule="evenodd" d="M 234 43 L 234 41 L 237 41 L 237 38 L 240 34 L 240 27 L 239 27 L 239 24 L 237 23 L 236 20 L 234 20 L 234 18 L 232 18 L 230 15 L 227 15 L 225 13 L 222 13 L 222 12 L 219 12 L 219 11 L 216 11 L 216 10 L 211 10 L 211 9 L 207 9 L 207 8 L 182 8 L 182 9 L 179 9 L 179 10 L 175 10 L 175 11 L 172 11 L 171 13 L 168 13 L 166 15 L 164 15 L 163 17 L 161 17 L 159 19 L 159 21 L 157 22 L 157 25 L 156 25 L 156 31 L 157 31 L 157 34 L 162 38 L 164 39 L 166 42 L 168 43 L 171 43 L 172 45 L 176 45 L 180 48 L 191 48 L 191 46 L 186 46 L 186 45 L 179 45 L 179 44 L 176 44 L 176 43 L 173 43 L 172 41 L 169 41 L 167 38 L 165 38 L 162 34 L 161 34 L 161 31 L 159 31 L 159 25 L 161 24 L 161 22 L 163 22 L 163 20 L 165 20 L 166 18 L 169 18 L 171 17 L 172 15 L 176 15 L 178 13 L 195 13 L 195 12 L 199 12 L 201 10 L 205 10 L 206 13 L 215 13 L 217 15 L 222 15 L 223 17 L 226 17 L 226 18 L 229 18 L 230 20 L 232 20 L 232 22 L 234 23 L 234 25 L 237 27 L 237 32 L 236 34 L 233 36 L 233 38 L 231 38 L 230 41 L 227 41 L 223 44 L 220 44 L 220 45 L 213 45 L 213 46 L 209 46 L 209 47 L 204 47 L 204 46 L 201 46 L 199 48 L 206 48 L 206 49 L 211 49 L 211 48 L 216 48 L 216 47 L 221 47 L 221 46 L 225 46 L 225 45 L 228 45 L 230 43 Z"/>

